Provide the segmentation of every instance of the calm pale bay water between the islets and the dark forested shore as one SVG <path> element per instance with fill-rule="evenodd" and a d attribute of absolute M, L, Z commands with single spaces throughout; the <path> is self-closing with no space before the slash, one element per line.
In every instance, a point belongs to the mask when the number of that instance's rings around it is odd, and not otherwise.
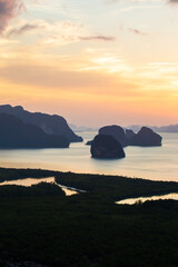
<path fill-rule="evenodd" d="M 85 142 L 97 132 L 79 134 Z M 0 150 L 0 166 L 43 168 L 61 171 L 126 175 L 155 180 L 178 181 L 178 134 L 161 134 L 162 147 L 127 147 L 126 158 L 97 160 L 90 157 L 90 147 L 71 144 L 69 149 Z"/>

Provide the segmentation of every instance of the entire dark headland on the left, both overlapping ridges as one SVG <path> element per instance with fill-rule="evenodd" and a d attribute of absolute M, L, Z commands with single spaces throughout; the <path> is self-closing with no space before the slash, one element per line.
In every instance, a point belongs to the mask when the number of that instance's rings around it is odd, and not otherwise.
<path fill-rule="evenodd" d="M 77 141 L 82 138 L 60 116 L 0 106 L 0 148 L 67 148 Z"/>

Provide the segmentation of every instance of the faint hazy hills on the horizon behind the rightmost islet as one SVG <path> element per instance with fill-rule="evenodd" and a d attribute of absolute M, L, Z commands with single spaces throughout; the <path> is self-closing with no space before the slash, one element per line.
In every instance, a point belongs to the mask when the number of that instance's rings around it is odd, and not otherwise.
<path fill-rule="evenodd" d="M 131 125 L 131 126 L 128 126 L 127 128 L 137 132 L 140 130 L 141 127 L 142 126 L 140 125 Z M 160 126 L 160 127 L 148 126 L 148 127 L 157 132 L 178 132 L 178 125 L 169 125 L 169 126 Z"/>

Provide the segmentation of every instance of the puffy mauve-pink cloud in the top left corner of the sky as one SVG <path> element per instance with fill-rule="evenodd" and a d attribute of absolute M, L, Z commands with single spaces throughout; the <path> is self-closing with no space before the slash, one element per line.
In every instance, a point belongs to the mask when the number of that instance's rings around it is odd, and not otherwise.
<path fill-rule="evenodd" d="M 0 33 L 7 27 L 9 20 L 17 17 L 23 8 L 22 0 L 0 0 Z"/>

